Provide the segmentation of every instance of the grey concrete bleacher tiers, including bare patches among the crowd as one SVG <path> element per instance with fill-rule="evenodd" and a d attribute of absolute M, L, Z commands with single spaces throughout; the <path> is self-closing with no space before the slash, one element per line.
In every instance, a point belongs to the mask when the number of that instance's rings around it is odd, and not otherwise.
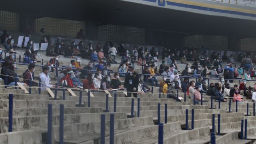
<path fill-rule="evenodd" d="M 17 54 L 24 53 L 24 49 L 17 49 Z M 50 57 L 45 56 L 45 52 L 39 51 L 37 59 L 47 62 Z M 117 62 L 120 62 L 117 56 Z M 60 56 L 60 65 L 67 66 L 71 58 Z M 16 56 L 16 61 L 19 57 Z M 81 67 L 88 64 L 89 60 L 81 59 Z M 192 62 L 191 62 L 192 63 Z M 40 65 L 40 64 L 39 64 Z M 157 63 L 159 66 L 160 63 Z M 183 70 L 185 64 L 178 64 L 179 70 Z M 26 65 L 17 64 L 18 76 L 27 69 Z M 111 69 L 116 70 L 119 64 L 111 64 Z M 34 75 L 38 81 L 38 76 L 42 71 L 41 67 L 36 67 Z M 135 71 L 141 74 L 141 66 L 135 64 Z M 243 78 L 243 76 L 241 76 Z M 55 72 L 51 73 L 51 83 L 56 83 Z M 161 80 L 162 77 L 158 77 Z M 196 78 L 190 78 L 195 80 Z M 120 81 L 123 83 L 124 79 Z M 209 80 L 209 83 L 216 83 L 218 80 Z M 208 83 L 208 84 L 209 84 Z M 235 80 L 230 85 L 239 84 Z M 247 86 L 253 86 L 254 82 L 247 82 Z M 47 91 L 32 87 L 32 94 L 25 94 L 24 90 L 4 88 L 1 83 L 0 89 L 0 144 L 46 144 L 48 141 L 48 104 L 52 104 L 52 144 L 58 144 L 60 140 L 60 104 L 64 104 L 64 143 L 65 144 L 99 144 L 101 143 L 101 114 L 106 116 L 105 122 L 105 143 L 109 144 L 110 139 L 110 114 L 114 114 L 114 143 L 115 144 L 157 144 L 159 123 L 163 124 L 163 143 L 164 144 L 208 144 L 211 141 L 211 132 L 216 134 L 216 144 L 250 144 L 256 139 L 256 117 L 253 116 L 253 102 L 247 99 L 247 104 L 231 102 L 230 112 L 229 103 L 212 101 L 211 96 L 203 95 L 208 100 L 202 105 L 193 105 L 193 99 L 187 96 L 186 101 L 180 102 L 167 99 L 167 95 L 160 93 L 159 87 L 153 88 L 153 93 L 138 93 L 138 98 L 127 98 L 123 91 L 111 93 L 106 103 L 106 93 L 91 91 L 94 95 L 88 96 L 86 91 L 73 90 L 76 96 L 70 96 L 68 91 L 63 89 L 56 92 L 56 98 L 50 98 Z M 29 87 L 26 87 L 29 90 Z M 54 91 L 54 89 L 53 89 Z M 179 91 L 179 97 L 184 93 Z M 8 132 L 8 106 L 9 94 L 13 94 L 13 123 L 12 131 Z M 116 95 L 116 109 L 115 98 Z M 90 100 L 88 99 L 90 98 Z M 245 98 L 244 98 L 245 99 Z M 82 104 L 79 104 L 82 101 Z M 90 107 L 88 107 L 90 104 Z M 107 104 L 107 106 L 106 106 Z M 160 104 L 160 115 L 158 115 L 158 105 Z M 165 117 L 165 104 L 167 104 L 167 115 Z M 131 106 L 133 111 L 131 111 Z M 106 109 L 108 111 L 106 112 Z M 188 128 L 186 130 L 186 109 L 188 109 Z M 192 120 L 192 109 L 194 109 L 194 120 Z M 237 110 L 237 112 L 236 112 Z M 115 111 L 115 112 L 114 112 Z M 212 114 L 216 114 L 215 128 L 212 129 Z M 218 118 L 220 114 L 220 135 L 218 131 Z M 134 115 L 134 117 L 133 117 Z M 241 120 L 247 119 L 247 140 L 240 139 Z M 192 129 L 192 121 L 194 123 Z"/>

